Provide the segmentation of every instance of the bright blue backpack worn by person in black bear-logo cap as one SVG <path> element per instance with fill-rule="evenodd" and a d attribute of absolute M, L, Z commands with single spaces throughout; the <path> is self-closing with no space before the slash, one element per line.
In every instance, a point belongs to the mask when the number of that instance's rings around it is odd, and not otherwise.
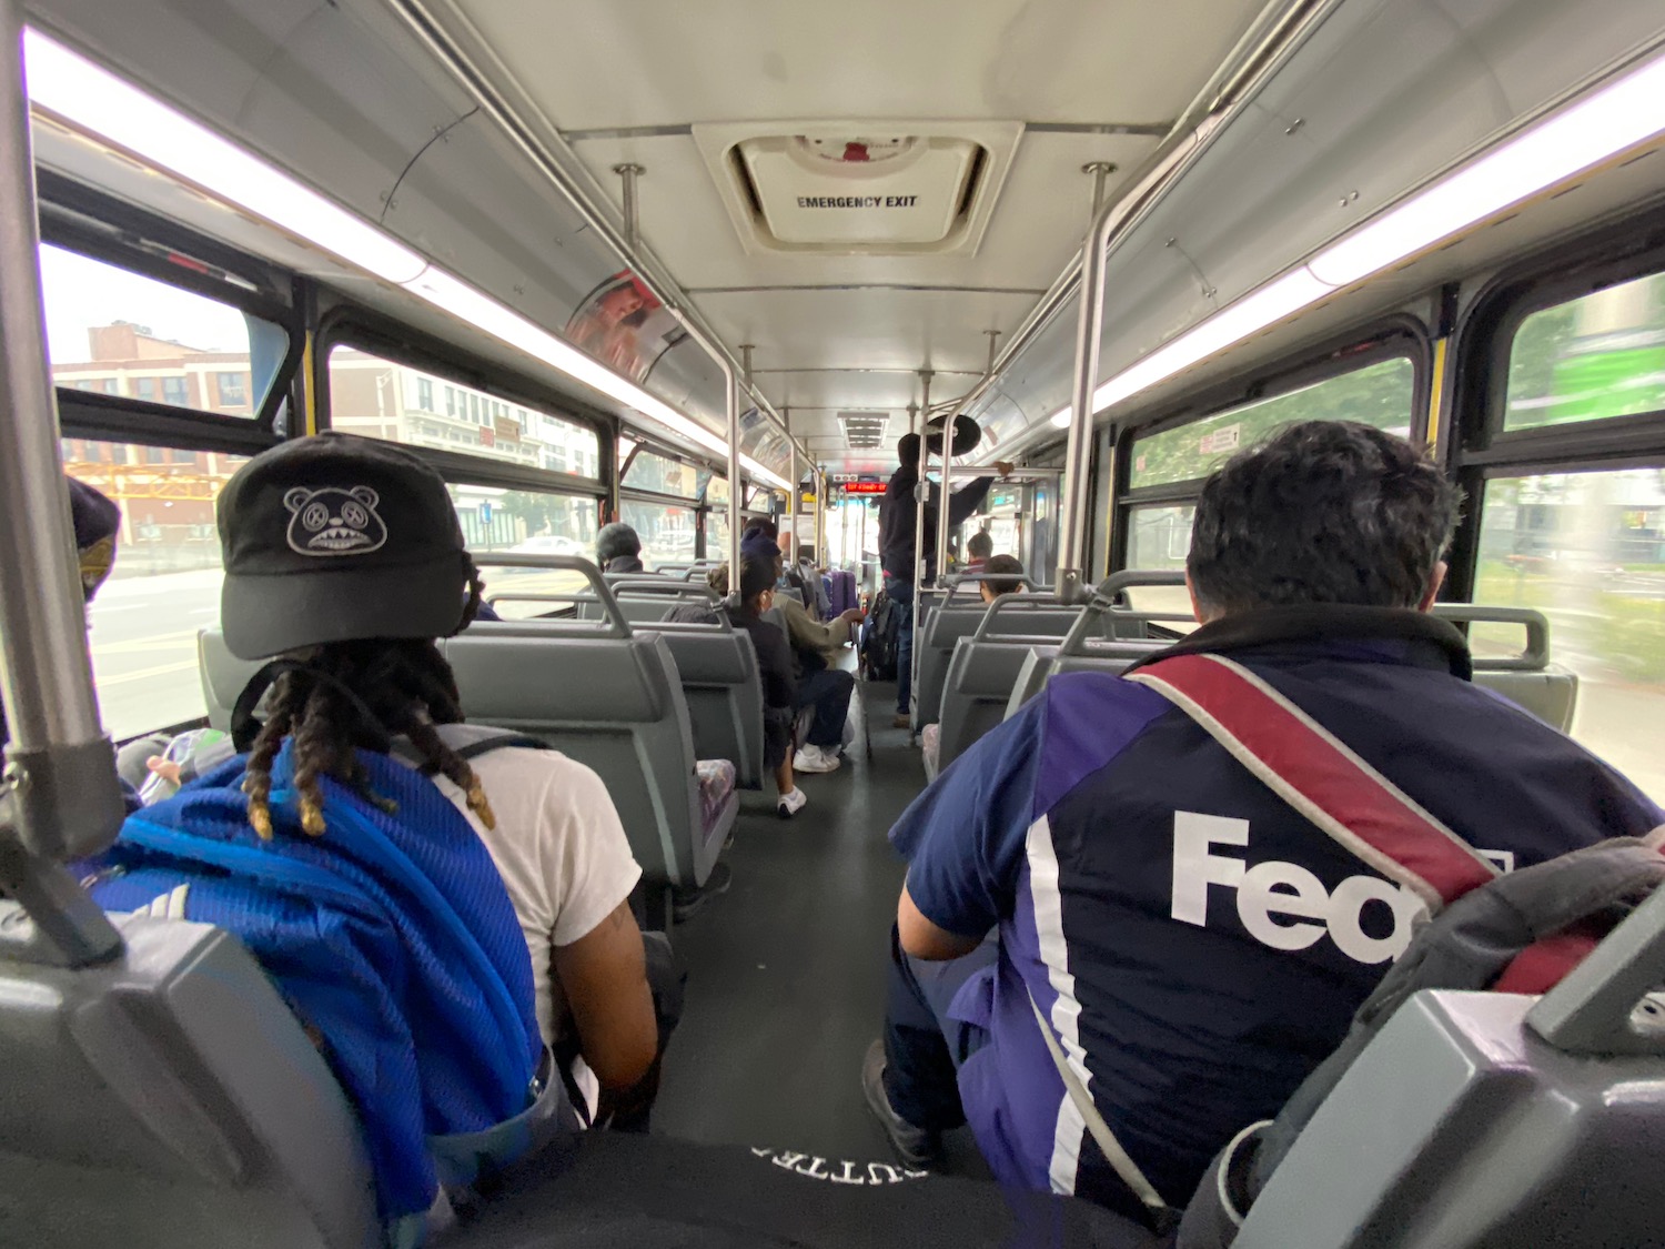
<path fill-rule="evenodd" d="M 445 736 L 473 738 L 466 756 L 541 744 L 463 726 Z M 396 1226 L 420 1221 L 440 1184 L 471 1184 L 529 1149 L 561 1081 L 539 1069 L 531 958 L 485 844 L 420 771 L 358 759 L 393 814 L 325 778 L 328 829 L 303 833 L 286 741 L 271 841 L 248 824 L 238 756 L 128 816 L 92 893 L 108 911 L 243 941 L 356 1107 L 378 1211 Z"/>

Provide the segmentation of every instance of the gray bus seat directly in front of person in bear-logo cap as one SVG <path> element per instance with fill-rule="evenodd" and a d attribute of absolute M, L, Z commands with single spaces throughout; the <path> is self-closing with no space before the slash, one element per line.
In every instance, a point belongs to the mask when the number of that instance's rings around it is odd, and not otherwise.
<path fill-rule="evenodd" d="M 636 634 L 594 565 L 576 556 L 481 556 L 481 563 L 581 571 L 603 621 L 478 621 L 440 649 L 471 721 L 541 738 L 606 784 L 643 876 L 656 891 L 704 884 L 739 808 L 736 768 L 699 759 L 676 659 L 663 633 Z M 256 661 L 218 629 L 200 634 L 208 723 L 230 728 Z"/>

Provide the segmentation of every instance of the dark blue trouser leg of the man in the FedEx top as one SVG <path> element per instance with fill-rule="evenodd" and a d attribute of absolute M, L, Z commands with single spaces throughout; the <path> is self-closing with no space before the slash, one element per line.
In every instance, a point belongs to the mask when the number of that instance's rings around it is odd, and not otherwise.
<path fill-rule="evenodd" d="M 914 1127 L 946 1132 L 966 1122 L 959 1102 L 959 1067 L 982 1049 L 989 1034 L 949 1019 L 954 994 L 999 958 L 994 938 L 946 963 L 902 953 L 891 926 L 891 974 L 884 1006 L 884 1096 Z"/>

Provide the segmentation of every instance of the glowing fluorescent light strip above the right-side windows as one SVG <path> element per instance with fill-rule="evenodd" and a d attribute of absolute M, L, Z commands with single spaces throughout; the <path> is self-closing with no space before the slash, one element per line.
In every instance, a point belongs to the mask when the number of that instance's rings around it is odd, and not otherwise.
<path fill-rule="evenodd" d="M 1322 298 L 1437 246 L 1522 200 L 1665 133 L 1665 57 L 1537 122 L 1327 246 L 1300 268 L 1192 326 L 1092 393 L 1099 413 Z M 1069 428 L 1071 410 L 1049 423 Z"/>

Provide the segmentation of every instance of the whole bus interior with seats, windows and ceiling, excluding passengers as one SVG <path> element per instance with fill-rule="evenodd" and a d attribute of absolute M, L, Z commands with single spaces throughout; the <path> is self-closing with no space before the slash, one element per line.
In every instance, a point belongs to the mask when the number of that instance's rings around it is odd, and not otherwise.
<path fill-rule="evenodd" d="M 608 781 L 639 919 L 688 969 L 653 1134 L 433 1244 L 1012 1242 L 1022 1201 L 967 1129 L 927 1176 L 862 1101 L 906 871 L 886 833 L 1051 676 L 1194 626 L 1202 480 L 1290 421 L 1429 448 L 1465 500 L 1435 613 L 1475 679 L 1665 803 L 1657 3 L 0 18 L 3 1244 L 395 1242 L 235 941 L 112 923 L 60 866 L 117 834 L 112 746 L 142 774 L 155 734 L 230 723 L 258 664 L 218 631 L 215 500 L 288 438 L 440 471 L 508 621 L 443 643 L 468 714 Z M 1001 478 L 931 561 L 982 531 L 1027 590 L 921 591 L 911 711 L 862 674 L 842 766 L 783 823 L 749 643 L 666 623 L 666 595 L 704 603 L 764 518 L 871 605 L 896 443 L 931 421 L 977 438 L 926 476 Z M 65 473 L 120 508 L 85 620 Z M 614 520 L 651 580 L 596 568 Z M 719 863 L 733 886 L 671 924 Z M 1235 1244 L 1665 1244 L 1660 901 L 1542 999 L 1404 1008 Z M 1172 1242 L 1062 1197 L 1037 1219 L 1034 1242 Z"/>

